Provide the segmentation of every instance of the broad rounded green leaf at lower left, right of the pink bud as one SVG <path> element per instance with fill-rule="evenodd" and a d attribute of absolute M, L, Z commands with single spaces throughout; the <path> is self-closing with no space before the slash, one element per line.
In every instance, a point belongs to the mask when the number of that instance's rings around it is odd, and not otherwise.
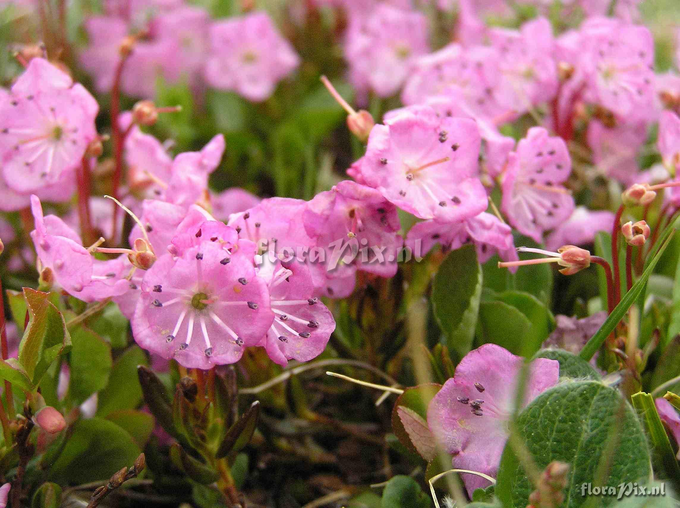
<path fill-rule="evenodd" d="M 130 467 L 140 453 L 131 435 L 114 422 L 97 417 L 78 420 L 49 479 L 74 485 L 109 479 L 122 467 Z"/>

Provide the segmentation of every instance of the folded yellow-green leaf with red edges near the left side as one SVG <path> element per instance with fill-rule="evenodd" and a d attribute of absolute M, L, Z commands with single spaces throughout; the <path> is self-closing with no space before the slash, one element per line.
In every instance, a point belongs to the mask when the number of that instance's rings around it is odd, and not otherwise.
<path fill-rule="evenodd" d="M 24 287 L 29 325 L 19 344 L 19 362 L 36 385 L 50 363 L 71 349 L 71 337 L 64 317 L 48 300 L 49 297 L 49 293 Z"/>

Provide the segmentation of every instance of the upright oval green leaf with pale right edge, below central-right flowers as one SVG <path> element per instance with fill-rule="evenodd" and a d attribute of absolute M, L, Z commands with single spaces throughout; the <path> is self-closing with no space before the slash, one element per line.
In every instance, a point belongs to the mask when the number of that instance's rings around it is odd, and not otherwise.
<path fill-rule="evenodd" d="M 472 348 L 481 282 L 475 248 L 466 245 L 447 255 L 432 285 L 435 318 L 447 336 L 449 350 L 461 358 Z"/>

